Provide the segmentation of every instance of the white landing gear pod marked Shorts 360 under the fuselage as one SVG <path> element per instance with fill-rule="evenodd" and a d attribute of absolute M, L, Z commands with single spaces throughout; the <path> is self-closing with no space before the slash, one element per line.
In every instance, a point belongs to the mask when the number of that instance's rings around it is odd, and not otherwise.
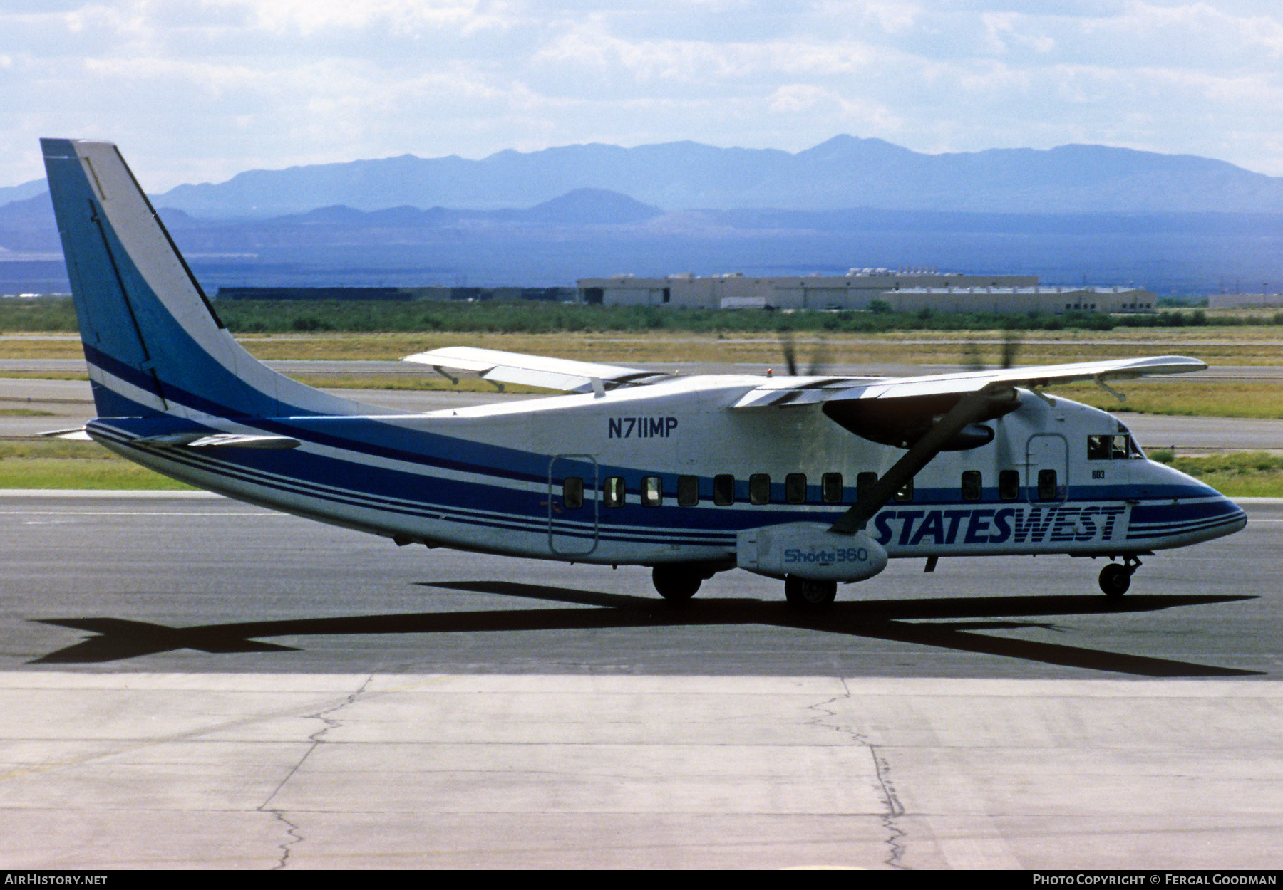
<path fill-rule="evenodd" d="M 739 532 L 735 564 L 774 578 L 863 581 L 887 568 L 887 550 L 865 531 L 837 535 L 817 522 L 790 522 Z"/>

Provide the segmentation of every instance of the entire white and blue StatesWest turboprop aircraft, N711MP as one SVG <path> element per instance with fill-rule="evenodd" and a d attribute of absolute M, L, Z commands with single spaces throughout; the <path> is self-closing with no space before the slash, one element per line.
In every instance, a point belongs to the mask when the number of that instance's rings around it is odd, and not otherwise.
<path fill-rule="evenodd" d="M 743 568 L 824 605 L 892 557 L 1142 555 L 1243 512 L 1144 458 L 1069 381 L 1205 368 L 1182 357 L 921 377 L 671 376 L 482 349 L 409 357 L 563 390 L 395 413 L 268 369 L 225 330 L 115 146 L 44 140 L 100 417 L 158 472 L 393 539 L 653 569 L 668 599 Z"/>

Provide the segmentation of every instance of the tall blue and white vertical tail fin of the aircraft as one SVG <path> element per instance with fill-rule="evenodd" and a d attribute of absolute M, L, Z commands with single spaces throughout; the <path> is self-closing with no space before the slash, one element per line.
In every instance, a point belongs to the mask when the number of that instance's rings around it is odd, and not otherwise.
<path fill-rule="evenodd" d="M 40 144 L 100 417 L 381 413 L 232 339 L 113 144 Z"/>

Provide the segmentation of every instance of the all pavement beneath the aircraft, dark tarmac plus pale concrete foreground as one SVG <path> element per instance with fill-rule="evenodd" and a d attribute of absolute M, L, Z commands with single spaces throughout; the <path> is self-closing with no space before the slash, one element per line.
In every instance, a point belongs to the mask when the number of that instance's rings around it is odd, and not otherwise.
<path fill-rule="evenodd" d="M 1283 507 L 1148 558 L 452 554 L 205 495 L 0 495 L 0 867 L 1275 868 Z M 951 564 L 953 563 L 953 564 Z"/>

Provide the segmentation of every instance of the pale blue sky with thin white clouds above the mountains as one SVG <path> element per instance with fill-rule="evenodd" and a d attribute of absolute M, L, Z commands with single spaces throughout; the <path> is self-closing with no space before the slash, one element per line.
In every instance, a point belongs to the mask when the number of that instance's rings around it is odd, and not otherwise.
<path fill-rule="evenodd" d="M 1097 142 L 1283 176 L 1278 0 L 0 0 L 0 186 L 574 142 Z"/>

